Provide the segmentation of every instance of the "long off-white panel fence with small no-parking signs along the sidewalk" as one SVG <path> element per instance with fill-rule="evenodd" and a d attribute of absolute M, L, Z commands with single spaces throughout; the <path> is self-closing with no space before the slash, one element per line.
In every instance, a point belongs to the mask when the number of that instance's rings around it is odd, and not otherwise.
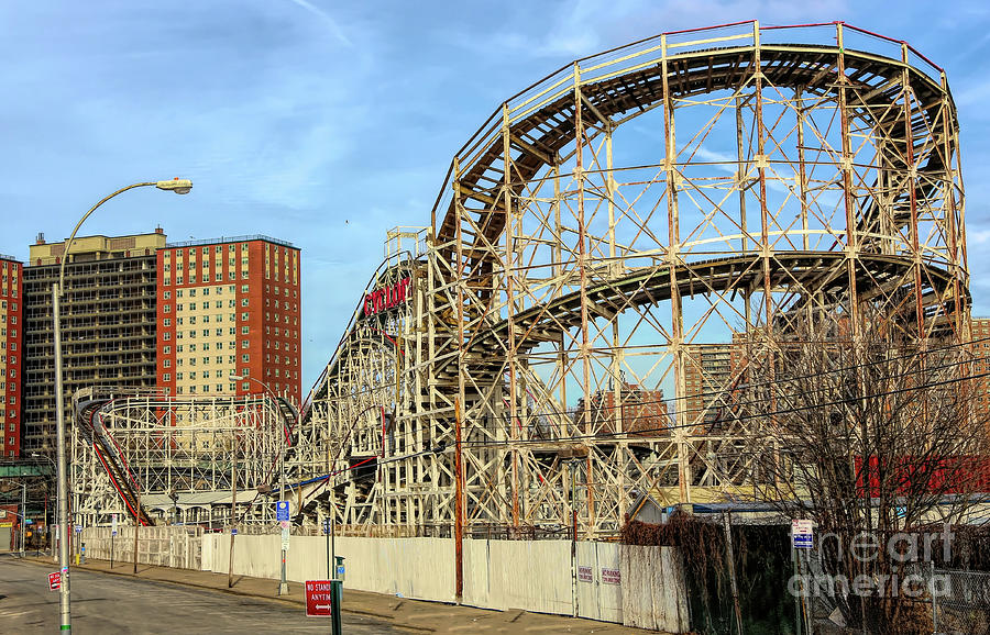
<path fill-rule="evenodd" d="M 280 576 L 278 535 L 238 535 L 233 573 Z M 463 603 L 484 609 L 524 609 L 578 615 L 670 633 L 689 631 L 688 601 L 680 562 L 668 547 L 634 547 L 568 541 L 464 541 Z M 454 545 L 451 538 L 339 537 L 350 589 L 440 602 L 454 602 Z M 202 536 L 201 567 L 227 572 L 229 534 Z M 293 536 L 286 578 L 322 579 L 327 543 Z"/>

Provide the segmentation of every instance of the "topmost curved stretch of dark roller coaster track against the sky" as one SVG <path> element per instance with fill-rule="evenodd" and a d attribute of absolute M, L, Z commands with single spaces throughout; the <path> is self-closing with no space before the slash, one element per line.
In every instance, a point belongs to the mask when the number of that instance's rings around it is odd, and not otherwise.
<path fill-rule="evenodd" d="M 659 40 L 658 38 L 654 38 Z M 639 43 L 642 46 L 644 43 Z M 659 47 L 660 43 L 654 42 Z M 917 167 L 917 180 L 913 187 L 897 192 L 892 201 L 884 202 L 894 211 L 897 226 L 911 221 L 910 201 L 923 200 L 932 191 L 938 175 L 946 170 L 942 153 L 926 152 L 934 140 L 945 138 L 945 126 L 955 125 L 942 112 L 945 87 L 912 67 L 906 59 L 897 60 L 876 54 L 823 45 L 755 44 L 725 48 L 703 48 L 667 57 L 666 64 L 654 60 L 637 64 L 634 69 L 618 76 L 606 75 L 601 80 L 582 81 L 581 110 L 586 125 L 618 125 L 660 105 L 664 99 L 686 99 L 719 90 L 737 90 L 759 69 L 767 82 L 779 87 L 801 88 L 812 94 L 826 96 L 836 90 L 842 53 L 847 92 L 858 96 L 861 103 L 850 105 L 850 114 L 861 118 L 875 130 L 887 132 L 891 143 L 889 157 L 903 163 L 906 157 L 925 157 Z M 606 54 L 602 54 L 604 56 Z M 594 58 L 581 60 L 594 62 Z M 569 73 L 561 68 L 550 77 Z M 666 71 L 666 77 L 664 77 Z M 905 112 L 902 82 L 906 79 L 916 96 L 916 105 Z M 546 81 L 546 80 L 544 80 Z M 667 87 L 667 90 L 664 90 Z M 539 93 L 539 99 L 525 99 L 527 89 L 510 99 L 505 112 L 508 126 L 512 159 L 516 176 L 510 180 L 512 194 L 519 196 L 526 183 L 541 170 L 553 164 L 575 134 L 575 100 L 572 89 L 558 89 Z M 513 104 L 515 107 L 513 108 Z M 499 124 L 503 111 L 496 112 L 490 122 Z M 921 131 L 924 122 L 931 122 L 924 134 L 916 138 L 904 127 L 905 119 L 913 130 Z M 487 124 L 486 124 L 487 125 Z M 898 130 L 900 126 L 902 130 Z M 481 203 L 481 210 L 472 210 L 472 226 L 477 233 L 462 229 L 463 252 L 468 258 L 468 276 L 483 278 L 491 274 L 492 263 L 480 255 L 491 254 L 485 244 L 497 244 L 505 230 L 505 212 L 498 208 L 504 200 L 503 181 L 506 165 L 503 135 L 485 138 L 483 129 L 458 153 L 460 165 L 459 191 L 461 198 L 452 200 L 443 221 L 437 230 L 438 242 L 458 241 L 458 209 L 469 211 L 469 202 Z M 900 159 L 898 157 L 901 157 Z M 927 178 L 926 178 L 927 177 Z M 877 219 L 880 201 L 870 200 L 861 214 L 859 230 L 870 227 Z M 453 257 L 453 250 L 449 250 Z"/>

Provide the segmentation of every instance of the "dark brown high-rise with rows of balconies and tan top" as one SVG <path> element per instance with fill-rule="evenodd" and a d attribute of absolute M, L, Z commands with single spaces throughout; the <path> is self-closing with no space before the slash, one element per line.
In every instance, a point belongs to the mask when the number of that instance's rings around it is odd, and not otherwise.
<path fill-rule="evenodd" d="M 155 254 L 151 234 L 84 236 L 73 243 L 61 301 L 64 404 L 90 386 L 155 386 Z M 54 452 L 52 285 L 66 242 L 31 245 L 23 269 L 23 452 Z M 69 411 L 66 410 L 68 413 Z"/>

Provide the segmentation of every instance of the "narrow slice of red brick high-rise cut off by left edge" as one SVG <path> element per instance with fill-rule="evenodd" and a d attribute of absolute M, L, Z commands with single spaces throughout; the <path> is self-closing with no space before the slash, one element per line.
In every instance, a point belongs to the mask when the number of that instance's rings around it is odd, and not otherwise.
<path fill-rule="evenodd" d="M 0 254 L 0 456 L 15 457 L 21 450 L 20 386 L 23 355 L 22 265 Z"/>

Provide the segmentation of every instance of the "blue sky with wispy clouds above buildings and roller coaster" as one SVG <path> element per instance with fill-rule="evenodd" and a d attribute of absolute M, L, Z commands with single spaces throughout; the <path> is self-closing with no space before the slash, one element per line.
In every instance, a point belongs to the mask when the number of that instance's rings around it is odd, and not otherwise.
<path fill-rule="evenodd" d="M 990 4 L 826 0 L 0 4 L 0 253 L 82 234 L 266 234 L 302 249 L 304 390 L 383 259 L 428 225 L 453 154 L 517 91 L 661 32 L 843 20 L 947 73 L 961 124 L 974 314 L 990 315 Z"/>

